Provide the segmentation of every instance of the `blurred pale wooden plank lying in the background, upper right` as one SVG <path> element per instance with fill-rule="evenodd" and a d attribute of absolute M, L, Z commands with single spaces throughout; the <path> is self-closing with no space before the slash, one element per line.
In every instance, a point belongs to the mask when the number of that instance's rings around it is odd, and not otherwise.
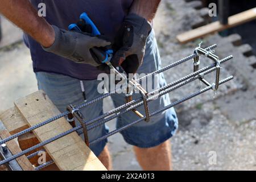
<path fill-rule="evenodd" d="M 177 40 L 180 43 L 187 43 L 192 40 L 202 38 L 206 35 L 213 34 L 218 31 L 222 31 L 231 27 L 238 26 L 239 24 L 249 22 L 256 18 L 256 8 L 243 11 L 236 15 L 230 16 L 228 24 L 221 24 L 219 21 L 207 24 L 205 26 L 196 28 L 191 31 L 184 32 L 183 34 L 177 35 Z"/>

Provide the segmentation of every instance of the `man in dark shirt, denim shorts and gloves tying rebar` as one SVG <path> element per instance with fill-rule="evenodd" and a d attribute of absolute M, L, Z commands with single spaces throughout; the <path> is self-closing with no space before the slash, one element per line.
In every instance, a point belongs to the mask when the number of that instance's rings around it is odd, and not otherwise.
<path fill-rule="evenodd" d="M 42 3 L 45 16 L 39 16 Z M 53 104 L 63 112 L 67 105 L 79 105 L 84 100 L 81 85 L 87 100 L 100 96 L 97 76 L 104 72 L 101 63 L 91 55 L 93 47 L 118 45 L 112 64 L 121 65 L 128 73 L 151 73 L 161 67 L 159 50 L 152 29 L 153 19 L 160 0 L 1 0 L 0 13 L 24 31 L 24 43 L 30 49 L 33 69 L 38 88 L 44 90 Z M 86 12 L 98 27 L 103 37 L 68 31 L 81 13 Z M 19 66 L 19 65 L 17 65 Z M 18 78 L 17 78 L 18 79 Z M 81 81 L 81 82 L 80 82 Z M 162 73 L 155 78 L 158 88 L 166 85 Z M 135 93 L 134 98 L 141 97 Z M 125 94 L 112 95 L 114 106 L 125 103 Z M 170 104 L 167 95 L 148 104 L 150 111 Z M 82 109 L 87 119 L 103 113 L 102 101 Z M 138 109 L 143 113 L 143 106 Z M 130 111 L 117 119 L 117 128 L 136 121 L 138 116 Z M 163 111 L 150 122 L 141 122 L 121 132 L 128 144 L 134 146 L 134 153 L 144 170 L 170 170 L 170 139 L 177 130 L 175 110 Z M 108 127 L 101 125 L 90 130 L 92 141 L 108 133 Z M 91 150 L 111 169 L 108 140 L 90 145 Z"/>

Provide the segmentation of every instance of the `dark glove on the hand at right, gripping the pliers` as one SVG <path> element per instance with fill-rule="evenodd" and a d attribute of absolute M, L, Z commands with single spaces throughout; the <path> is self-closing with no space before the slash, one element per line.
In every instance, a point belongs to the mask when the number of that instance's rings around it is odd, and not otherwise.
<path fill-rule="evenodd" d="M 114 67 L 120 66 L 126 73 L 136 73 L 142 64 L 146 40 L 151 31 L 151 24 L 137 14 L 129 14 L 122 23 L 116 38 L 112 59 Z"/>

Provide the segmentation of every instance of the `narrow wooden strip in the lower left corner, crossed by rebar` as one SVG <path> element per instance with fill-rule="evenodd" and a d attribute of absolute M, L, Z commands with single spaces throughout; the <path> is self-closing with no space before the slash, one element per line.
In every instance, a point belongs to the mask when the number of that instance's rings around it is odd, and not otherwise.
<path fill-rule="evenodd" d="M 1 122 L 1 121 L 0 121 Z M 10 137 L 10 133 L 7 130 L 1 130 L 0 131 L 0 137 L 1 138 L 7 138 Z M 15 155 L 19 152 L 22 152 L 22 150 L 19 148 L 18 144 L 14 140 L 10 140 L 9 142 L 6 142 L 7 147 L 9 148 L 11 154 Z M 25 155 L 20 156 L 16 159 L 16 161 L 19 163 L 19 166 L 24 171 L 34 171 L 34 167 L 32 167 L 32 164 L 29 162 L 27 157 Z"/>

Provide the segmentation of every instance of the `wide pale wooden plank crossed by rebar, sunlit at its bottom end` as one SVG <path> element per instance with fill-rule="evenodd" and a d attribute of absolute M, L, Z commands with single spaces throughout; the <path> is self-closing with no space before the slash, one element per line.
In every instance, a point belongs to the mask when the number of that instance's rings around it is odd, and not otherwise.
<path fill-rule="evenodd" d="M 60 113 L 42 91 L 21 98 L 14 102 L 14 104 L 29 126 L 34 126 Z M 39 141 L 42 142 L 69 129 L 72 129 L 72 127 L 67 120 L 60 118 L 33 132 Z M 46 151 L 60 170 L 106 170 L 77 133 L 72 133 L 55 140 L 44 148 L 46 148 Z"/>

